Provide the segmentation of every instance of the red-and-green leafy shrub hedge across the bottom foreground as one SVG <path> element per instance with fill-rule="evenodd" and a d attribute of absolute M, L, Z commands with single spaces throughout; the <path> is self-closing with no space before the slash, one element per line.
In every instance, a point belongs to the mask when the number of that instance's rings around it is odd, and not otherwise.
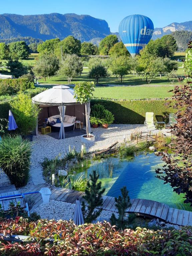
<path fill-rule="evenodd" d="M 150 256 L 192 255 L 192 231 L 116 231 L 109 223 L 76 227 L 72 221 L 28 223 L 25 219 L 0 221 L 0 233 L 36 237 L 36 242 L 10 243 L 0 240 L 1 256 Z M 53 238 L 54 242 L 46 241 Z"/>

